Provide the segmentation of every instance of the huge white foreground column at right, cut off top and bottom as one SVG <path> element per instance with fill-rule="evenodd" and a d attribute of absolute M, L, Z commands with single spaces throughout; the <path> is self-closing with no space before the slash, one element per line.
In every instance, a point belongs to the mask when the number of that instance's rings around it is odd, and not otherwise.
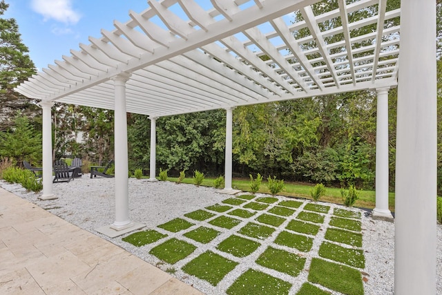
<path fill-rule="evenodd" d="M 436 294 L 436 5 L 401 1 L 394 294 Z"/>

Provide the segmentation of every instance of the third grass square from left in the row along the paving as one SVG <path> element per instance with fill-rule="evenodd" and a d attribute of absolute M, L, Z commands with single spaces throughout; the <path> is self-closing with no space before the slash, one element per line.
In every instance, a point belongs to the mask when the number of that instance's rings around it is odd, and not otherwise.
<path fill-rule="evenodd" d="M 186 274 L 191 274 L 216 286 L 236 265 L 238 265 L 238 263 L 215 254 L 212 251 L 206 251 L 184 265 L 182 270 L 186 272 Z"/>

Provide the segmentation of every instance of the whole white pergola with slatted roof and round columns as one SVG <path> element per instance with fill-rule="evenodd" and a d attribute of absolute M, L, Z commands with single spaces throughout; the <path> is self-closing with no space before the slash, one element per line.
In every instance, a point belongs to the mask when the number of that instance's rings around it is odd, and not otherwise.
<path fill-rule="evenodd" d="M 79 44 L 16 91 L 43 108 L 42 199 L 52 193 L 54 102 L 115 110 L 115 235 L 140 227 L 128 216 L 126 112 L 151 119 L 155 179 L 157 117 L 227 110 L 226 187 L 231 192 L 231 124 L 236 106 L 358 90 L 378 93 L 376 208 L 388 209 L 388 90 L 398 87 L 395 293 L 436 293 L 436 6 L 434 0 L 147 1 L 126 23 Z M 349 3 L 352 2 L 352 3 Z M 314 5 L 323 5 L 315 15 Z M 349 21 L 357 12 L 374 16 Z M 300 12 L 294 17 L 294 12 Z M 387 26 L 392 19 L 401 26 Z M 342 26 L 330 28 L 327 21 Z M 391 23 L 391 22 L 390 22 Z M 376 26 L 363 35 L 367 26 Z M 296 39 L 297 32 L 307 32 Z M 399 44 L 400 36 L 400 44 Z M 399 50 L 399 45 L 401 49 Z M 400 53 L 400 57 L 399 57 Z M 399 70 L 399 61 L 401 70 Z M 379 251 L 382 251 L 380 249 Z"/>

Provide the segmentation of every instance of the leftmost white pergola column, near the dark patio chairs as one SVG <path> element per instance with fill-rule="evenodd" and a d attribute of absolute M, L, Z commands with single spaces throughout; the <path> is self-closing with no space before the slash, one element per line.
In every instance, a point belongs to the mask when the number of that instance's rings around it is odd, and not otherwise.
<path fill-rule="evenodd" d="M 52 193 L 52 118 L 51 108 L 53 102 L 39 103 L 43 111 L 43 193 L 41 200 L 57 199 Z"/>

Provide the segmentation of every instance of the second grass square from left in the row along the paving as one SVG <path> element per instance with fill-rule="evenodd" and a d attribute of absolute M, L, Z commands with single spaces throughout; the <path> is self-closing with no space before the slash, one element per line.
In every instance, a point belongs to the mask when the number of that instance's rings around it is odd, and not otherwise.
<path fill-rule="evenodd" d="M 194 245 L 189 244 L 189 242 L 171 238 L 170 240 L 166 240 L 166 242 L 153 247 L 149 253 L 166 261 L 166 263 L 174 264 L 192 254 L 196 248 L 197 247 Z"/>

